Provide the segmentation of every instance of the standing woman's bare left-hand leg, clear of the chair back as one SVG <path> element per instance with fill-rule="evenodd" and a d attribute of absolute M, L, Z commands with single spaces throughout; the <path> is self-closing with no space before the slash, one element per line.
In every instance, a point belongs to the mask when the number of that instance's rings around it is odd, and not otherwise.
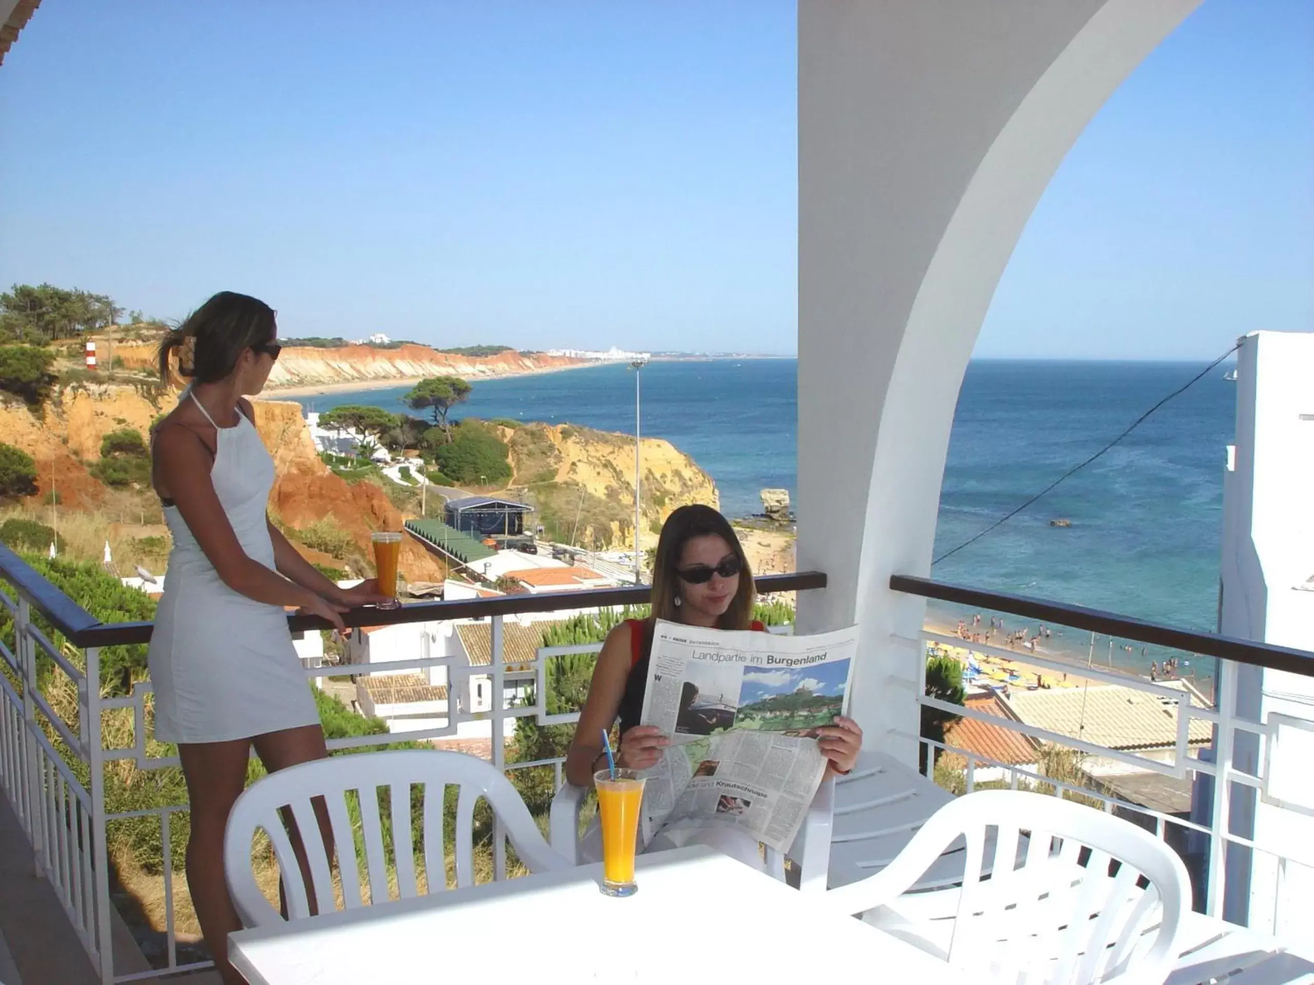
<path fill-rule="evenodd" d="M 233 805 L 246 784 L 248 739 L 180 745 L 183 776 L 192 805 L 192 835 L 187 841 L 187 885 L 205 935 L 205 946 L 225 985 L 246 985 L 229 964 L 229 934 L 242 929 L 223 880 L 223 831 Z"/>

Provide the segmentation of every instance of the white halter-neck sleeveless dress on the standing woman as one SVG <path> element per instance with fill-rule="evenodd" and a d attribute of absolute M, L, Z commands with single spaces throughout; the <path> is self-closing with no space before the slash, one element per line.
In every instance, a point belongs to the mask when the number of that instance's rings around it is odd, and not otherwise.
<path fill-rule="evenodd" d="M 192 399 L 214 424 L 201 402 Z M 247 557 L 273 570 L 265 525 L 273 460 L 244 414 L 238 414 L 235 427 L 215 426 L 215 432 L 214 491 Z M 317 725 L 315 701 L 284 609 L 229 588 L 177 507 L 164 507 L 164 521 L 173 549 L 147 658 L 155 738 L 226 742 Z"/>

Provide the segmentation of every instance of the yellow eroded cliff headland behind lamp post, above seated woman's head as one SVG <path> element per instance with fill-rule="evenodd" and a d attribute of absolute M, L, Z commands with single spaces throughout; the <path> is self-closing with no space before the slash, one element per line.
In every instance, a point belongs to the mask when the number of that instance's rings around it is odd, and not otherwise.
<path fill-rule="evenodd" d="M 632 437 L 572 424 L 498 429 L 510 449 L 512 485 L 526 487 L 551 538 L 573 537 L 598 548 L 633 545 Z M 657 532 L 677 507 L 689 503 L 720 507 L 712 477 L 670 441 L 643 439 L 640 462 L 641 548 L 656 545 Z"/>

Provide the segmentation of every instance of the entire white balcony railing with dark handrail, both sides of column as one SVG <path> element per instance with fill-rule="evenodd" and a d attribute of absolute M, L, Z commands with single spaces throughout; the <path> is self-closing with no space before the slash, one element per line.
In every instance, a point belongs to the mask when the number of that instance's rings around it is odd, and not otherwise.
<path fill-rule="evenodd" d="M 24 830 L 32 841 L 38 872 L 54 886 L 79 939 L 91 955 L 104 982 L 156 978 L 192 968 L 205 967 L 204 961 L 180 959 L 176 935 L 176 904 L 173 889 L 172 835 L 177 829 L 185 802 L 154 805 L 134 810 L 106 808 L 106 770 L 131 766 L 143 774 L 172 768 L 173 756 L 152 754 L 148 750 L 150 682 L 137 682 L 127 688 L 122 682 L 106 682 L 101 672 L 101 654 L 106 646 L 145 644 L 150 638 L 150 623 L 102 624 L 71 599 L 41 578 L 17 556 L 0 546 L 0 577 L 9 586 L 9 594 L 0 594 L 13 620 L 12 647 L 0 641 L 0 787 L 13 805 Z M 825 575 L 802 573 L 770 575 L 758 579 L 761 592 L 805 591 L 825 587 Z M 1138 644 L 1176 647 L 1184 654 L 1213 657 L 1219 661 L 1221 680 L 1218 707 L 1192 703 L 1184 691 L 1148 682 L 1109 667 L 1074 665 L 1043 653 L 1020 653 L 1001 646 L 967 644 L 951 634 L 924 629 L 917 637 L 895 638 L 891 644 L 908 654 L 899 666 L 905 671 L 894 684 L 903 686 L 920 707 L 936 708 L 946 713 L 982 720 L 984 724 L 1026 735 L 1038 743 L 1072 750 L 1077 756 L 1112 760 L 1120 767 L 1138 770 L 1148 776 L 1189 779 L 1194 784 L 1196 810 L 1190 817 L 1180 817 L 1118 796 L 1099 776 L 1083 774 L 1072 776 L 1046 775 L 1034 764 L 1020 764 L 992 759 L 979 751 L 955 747 L 950 742 L 928 739 L 911 732 L 891 730 L 904 739 L 915 739 L 928 750 L 933 762 L 936 751 L 949 751 L 964 760 L 962 789 L 971 791 L 984 783 L 1005 783 L 1009 787 L 1049 789 L 1056 796 L 1081 797 L 1105 810 L 1118 812 L 1139 820 L 1147 827 L 1175 844 L 1185 855 L 1198 880 L 1197 898 L 1212 915 L 1222 914 L 1227 889 L 1229 855 L 1240 852 L 1264 855 L 1273 860 L 1276 879 L 1288 877 L 1288 867 L 1314 869 L 1314 852 L 1305 843 L 1275 844 L 1252 837 L 1235 821 L 1247 814 L 1256 800 L 1277 804 L 1281 809 L 1314 813 L 1301 805 L 1281 802 L 1269 789 L 1272 771 L 1269 759 L 1276 747 L 1277 730 L 1286 725 L 1272 716 L 1257 721 L 1230 713 L 1235 707 L 1236 675 L 1229 672 L 1240 665 L 1267 667 L 1314 676 L 1314 654 L 1242 640 L 1193 633 L 1162 626 L 1142 620 L 1109 615 L 1079 607 L 1026 599 L 947 586 L 920 578 L 896 577 L 891 588 L 926 599 L 978 609 L 1007 613 L 1043 621 L 1051 626 L 1070 626 L 1087 633 L 1100 633 Z M 334 749 L 368 747 L 399 739 L 424 741 L 452 737 L 463 722 L 486 721 L 491 735 L 494 763 L 507 771 L 552 770 L 555 785 L 561 781 L 561 759 L 547 758 L 532 762 L 506 762 L 505 742 L 509 729 L 523 717 L 533 717 L 540 725 L 573 722 L 577 713 L 549 714 L 545 707 L 547 675 L 551 662 L 568 653 L 597 651 L 598 644 L 565 647 L 540 647 L 532 661 L 536 680 L 533 700 L 511 705 L 498 700 L 506 693 L 507 668 L 502 658 L 503 623 L 507 616 L 522 613 L 562 612 L 591 608 L 636 605 L 648 600 L 648 588 L 624 587 L 595 591 L 556 592 L 544 595 L 518 595 L 470 602 L 427 602 L 409 604 L 396 611 L 364 609 L 347 613 L 351 626 L 378 626 L 401 623 L 431 623 L 484 619 L 490 626 L 493 659 L 487 667 L 469 667 L 460 657 L 438 655 L 413 661 L 381 661 L 373 663 L 325 665 L 307 667 L 307 679 L 350 674 L 365 676 L 401 670 L 447 667 L 449 682 L 448 711 L 443 724 L 422 732 L 401 734 L 364 735 L 335 739 Z M 39 623 L 54 633 L 47 634 Z M 314 619 L 292 616 L 289 626 L 294 633 L 327 628 Z M 53 636 L 63 637 L 57 645 Z M 58 638 L 57 637 L 57 638 Z M 1117 683 L 1162 701 L 1166 713 L 1175 722 L 1175 742 L 1162 751 L 1162 758 L 1143 751 L 1113 749 L 1091 742 L 1080 734 L 1043 729 L 1022 721 L 986 716 L 970 708 L 947 705 L 925 693 L 925 653 L 928 645 L 966 646 L 980 654 L 1024 662 L 1051 674 L 1080 674 L 1093 682 Z M 38 666 L 41 674 L 38 675 Z M 465 712 L 455 700 L 455 683 L 461 676 L 487 676 L 494 696 L 487 712 Z M 114 687 L 110 687 L 114 684 Z M 112 693 L 113 691 L 125 693 Z M 130 720 L 130 729 L 125 724 Z M 106 722 L 116 722 L 113 734 L 106 734 Z M 1205 722 L 1212 729 L 1212 754 L 1192 741 L 1192 722 Z M 120 737 L 116 739 L 114 737 Z M 878 739 L 879 742 L 879 739 Z M 152 743 L 154 745 L 154 743 Z M 156 750 L 158 753 L 159 750 Z M 118 766 L 116 766 L 118 764 Z M 930 767 L 928 766 L 928 772 Z M 989 771 L 988 774 L 986 771 Z M 991 777 L 991 779 L 987 779 Z M 1000 779 L 1003 777 L 1003 779 Z M 544 777 L 545 779 L 545 777 Z M 1213 796 L 1218 791 L 1218 796 Z M 1247 814 L 1248 817 L 1248 814 Z M 164 948 L 155 967 L 129 964 L 121 956 L 116 969 L 112 944 L 113 904 L 110 902 L 110 859 L 106 829 L 121 823 L 141 823 L 142 818 L 158 823 L 163 884 Z M 505 839 L 494 831 L 493 876 L 507 873 Z M 1236 856 L 1234 856 L 1235 860 Z M 1244 868 L 1244 867 L 1243 867 Z M 1248 873 L 1246 877 L 1251 877 Z M 1281 885 L 1281 881 L 1279 881 Z M 1226 915 L 1226 914 L 1222 914 Z"/>

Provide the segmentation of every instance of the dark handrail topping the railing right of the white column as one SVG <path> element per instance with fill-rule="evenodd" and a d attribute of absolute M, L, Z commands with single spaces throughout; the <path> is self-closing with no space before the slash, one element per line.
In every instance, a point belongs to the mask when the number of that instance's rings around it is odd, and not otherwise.
<path fill-rule="evenodd" d="M 954 602 L 980 609 L 1010 612 L 1014 616 L 1055 623 L 1092 633 L 1135 640 L 1141 644 L 1171 646 L 1176 650 L 1198 653 L 1205 657 L 1221 657 L 1225 661 L 1248 663 L 1255 667 L 1285 670 L 1306 678 L 1314 678 L 1314 653 L 1296 650 L 1289 646 L 1259 644 L 1254 640 L 1236 640 L 1217 633 L 1200 633 L 1194 629 L 1177 629 L 1162 623 L 1150 623 L 1131 616 L 1120 616 L 1101 609 L 1088 609 L 1081 605 L 1068 605 L 1062 602 L 1033 599 L 1026 595 L 1007 595 L 1004 592 L 967 588 L 930 578 L 913 575 L 892 575 L 890 587 L 909 595 L 921 595 L 940 602 Z"/>

